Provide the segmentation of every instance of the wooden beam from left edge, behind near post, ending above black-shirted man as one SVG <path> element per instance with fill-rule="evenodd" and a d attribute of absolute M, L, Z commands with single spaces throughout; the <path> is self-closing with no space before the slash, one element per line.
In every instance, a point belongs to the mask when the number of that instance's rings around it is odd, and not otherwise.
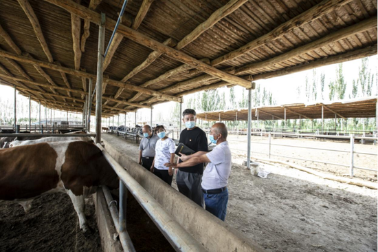
<path fill-rule="evenodd" d="M 74 69 L 71 69 L 71 68 L 68 68 L 68 67 L 63 67 L 61 65 L 47 63 L 45 61 L 38 61 L 36 59 L 29 59 L 25 56 L 10 54 L 9 52 L 5 52 L 3 50 L 0 50 L 0 56 L 3 56 L 5 58 L 14 59 L 16 61 L 20 61 L 20 62 L 24 62 L 24 63 L 39 65 L 41 67 L 46 67 L 48 69 L 56 70 L 56 71 L 59 71 L 59 72 L 65 72 L 67 74 L 73 74 L 74 76 L 80 76 L 80 77 L 84 76 L 84 77 L 92 78 L 93 80 L 96 80 L 95 74 L 89 74 L 87 72 L 74 70 Z M 165 99 L 166 101 L 177 101 L 177 102 L 181 101 L 181 98 L 176 97 L 176 96 L 170 96 L 168 94 L 162 94 L 160 92 L 157 92 L 157 91 L 154 91 L 154 90 L 148 90 L 148 89 L 143 88 L 143 87 L 138 87 L 138 86 L 132 85 L 130 83 L 122 83 L 120 81 L 112 80 L 111 78 L 104 78 L 104 82 L 108 82 L 109 83 L 108 85 L 113 85 L 115 87 L 124 87 L 124 88 L 128 88 L 129 90 L 136 91 L 136 92 L 142 92 L 144 94 L 148 94 L 148 95 L 151 95 L 151 96 L 157 96 L 159 98 Z"/>

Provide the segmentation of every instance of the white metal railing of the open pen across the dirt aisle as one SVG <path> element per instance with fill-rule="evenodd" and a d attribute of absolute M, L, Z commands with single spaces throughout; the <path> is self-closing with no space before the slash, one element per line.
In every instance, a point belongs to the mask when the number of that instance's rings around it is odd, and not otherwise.
<path fill-rule="evenodd" d="M 355 151 L 355 139 L 370 139 L 370 140 L 377 140 L 377 138 L 373 137 L 364 137 L 364 136 L 354 136 L 351 134 L 350 136 L 322 136 L 325 138 L 340 138 L 340 139 L 349 139 L 350 142 L 350 150 L 342 150 L 342 149 L 329 149 L 329 148 L 319 148 L 319 147 L 307 147 L 307 146 L 299 146 L 299 145 L 283 145 L 283 144 L 278 144 L 278 143 L 271 143 L 271 135 L 282 135 L 282 136 L 311 136 L 314 137 L 312 134 L 289 134 L 289 133 L 272 133 L 268 132 L 268 143 L 261 143 L 261 142 L 256 142 L 256 141 L 251 141 L 250 143 L 255 143 L 259 145 L 268 145 L 268 151 L 266 152 L 260 152 L 260 151 L 252 151 L 252 153 L 256 154 L 263 154 L 267 155 L 268 158 L 271 156 L 278 156 L 282 158 L 291 158 L 291 159 L 296 159 L 296 160 L 304 160 L 304 161 L 310 161 L 310 162 L 320 162 L 323 164 L 327 165 L 337 165 L 341 167 L 349 167 L 349 175 L 353 178 L 354 176 L 354 169 L 362 169 L 362 170 L 367 170 L 367 171 L 377 171 L 377 169 L 371 169 L 367 167 L 357 167 L 355 166 L 355 154 L 362 154 L 362 155 L 370 155 L 370 156 L 377 156 L 377 153 L 370 153 L 370 152 L 362 152 L 362 151 Z M 252 132 L 252 135 L 254 135 L 254 132 Z M 260 134 L 257 134 L 260 136 Z M 244 141 L 245 142 L 245 141 Z M 285 156 L 285 155 L 278 155 L 278 154 L 272 154 L 271 153 L 271 146 L 282 146 L 282 147 L 292 147 L 292 148 L 302 148 L 302 149 L 316 149 L 316 150 L 323 150 L 323 151 L 337 151 L 337 152 L 342 152 L 342 153 L 349 153 L 350 154 L 350 162 L 348 165 L 346 164 L 340 164 L 336 162 L 327 162 L 327 161 L 322 161 L 322 160 L 311 160 L 308 158 L 298 158 L 298 157 L 293 157 L 293 156 Z M 231 148 L 236 151 L 246 151 L 245 149 L 235 149 Z"/>

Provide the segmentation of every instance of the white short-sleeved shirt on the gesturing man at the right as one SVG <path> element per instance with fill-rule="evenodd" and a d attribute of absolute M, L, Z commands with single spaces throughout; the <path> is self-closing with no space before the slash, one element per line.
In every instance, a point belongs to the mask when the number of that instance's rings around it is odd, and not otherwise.
<path fill-rule="evenodd" d="M 206 156 L 210 162 L 203 171 L 201 187 L 205 190 L 227 187 L 231 172 L 231 150 L 228 142 L 216 145 Z"/>

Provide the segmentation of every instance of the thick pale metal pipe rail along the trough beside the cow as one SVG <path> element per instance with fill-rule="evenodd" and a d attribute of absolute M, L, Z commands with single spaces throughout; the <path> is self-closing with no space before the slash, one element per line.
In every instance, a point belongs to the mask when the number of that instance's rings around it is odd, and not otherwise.
<path fill-rule="evenodd" d="M 115 173 L 120 177 L 122 184 L 124 184 L 129 192 L 134 196 L 134 198 L 139 202 L 140 206 L 146 211 L 148 216 L 157 225 L 159 230 L 163 233 L 165 238 L 173 246 L 176 251 L 206 251 L 205 248 L 195 240 L 190 233 L 188 233 L 181 225 L 167 213 L 162 205 L 149 194 L 146 189 L 142 187 L 130 174 L 126 171 L 111 155 L 100 145 L 97 144 L 98 148 L 104 154 L 111 167 L 114 169 Z M 120 191 L 120 198 L 125 198 L 125 190 Z M 125 211 L 123 204 L 120 204 L 120 215 L 125 216 Z M 116 216 L 116 213 L 114 213 Z M 116 227 L 122 227 L 123 218 L 115 218 Z M 126 230 L 124 230 L 126 231 Z M 123 238 L 122 238 L 123 237 Z M 126 235 L 120 235 L 121 243 L 126 244 Z M 124 247 L 125 249 L 125 247 Z M 125 250 L 128 251 L 128 250 Z"/>

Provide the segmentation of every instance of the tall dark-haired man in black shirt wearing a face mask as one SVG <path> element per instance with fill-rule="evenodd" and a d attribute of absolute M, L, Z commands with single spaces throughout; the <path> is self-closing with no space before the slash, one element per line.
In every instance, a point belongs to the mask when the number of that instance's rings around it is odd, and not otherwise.
<path fill-rule="evenodd" d="M 182 155 L 179 162 L 183 162 L 193 156 L 201 156 L 208 153 L 208 138 L 202 129 L 196 126 L 196 112 L 194 109 L 185 109 L 182 113 L 186 129 L 180 134 L 179 143 L 195 151 L 190 156 Z M 193 167 L 179 168 L 176 182 L 180 193 L 193 200 L 203 207 L 203 193 L 201 191 L 201 179 L 203 174 L 203 163 Z"/>

